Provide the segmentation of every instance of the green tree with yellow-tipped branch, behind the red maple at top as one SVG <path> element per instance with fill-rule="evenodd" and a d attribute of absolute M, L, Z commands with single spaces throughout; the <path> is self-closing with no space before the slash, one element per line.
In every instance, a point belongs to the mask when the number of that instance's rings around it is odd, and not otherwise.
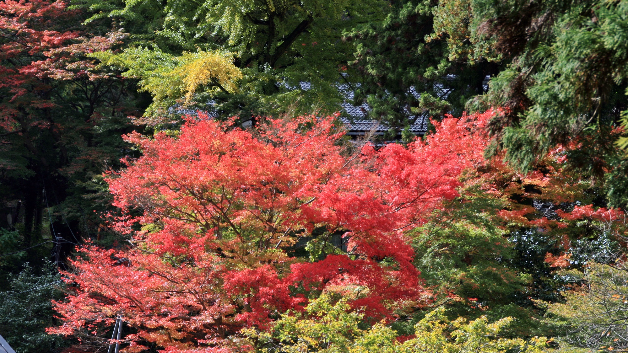
<path fill-rule="evenodd" d="M 344 100 L 338 83 L 355 76 L 344 75 L 352 45 L 342 32 L 381 18 L 387 7 L 381 0 L 76 3 L 130 33 L 123 53 L 97 57 L 141 79 L 154 96 L 148 117 L 187 108 L 243 119 L 289 108 L 337 111 Z M 185 84 L 203 71 L 204 80 Z"/>

